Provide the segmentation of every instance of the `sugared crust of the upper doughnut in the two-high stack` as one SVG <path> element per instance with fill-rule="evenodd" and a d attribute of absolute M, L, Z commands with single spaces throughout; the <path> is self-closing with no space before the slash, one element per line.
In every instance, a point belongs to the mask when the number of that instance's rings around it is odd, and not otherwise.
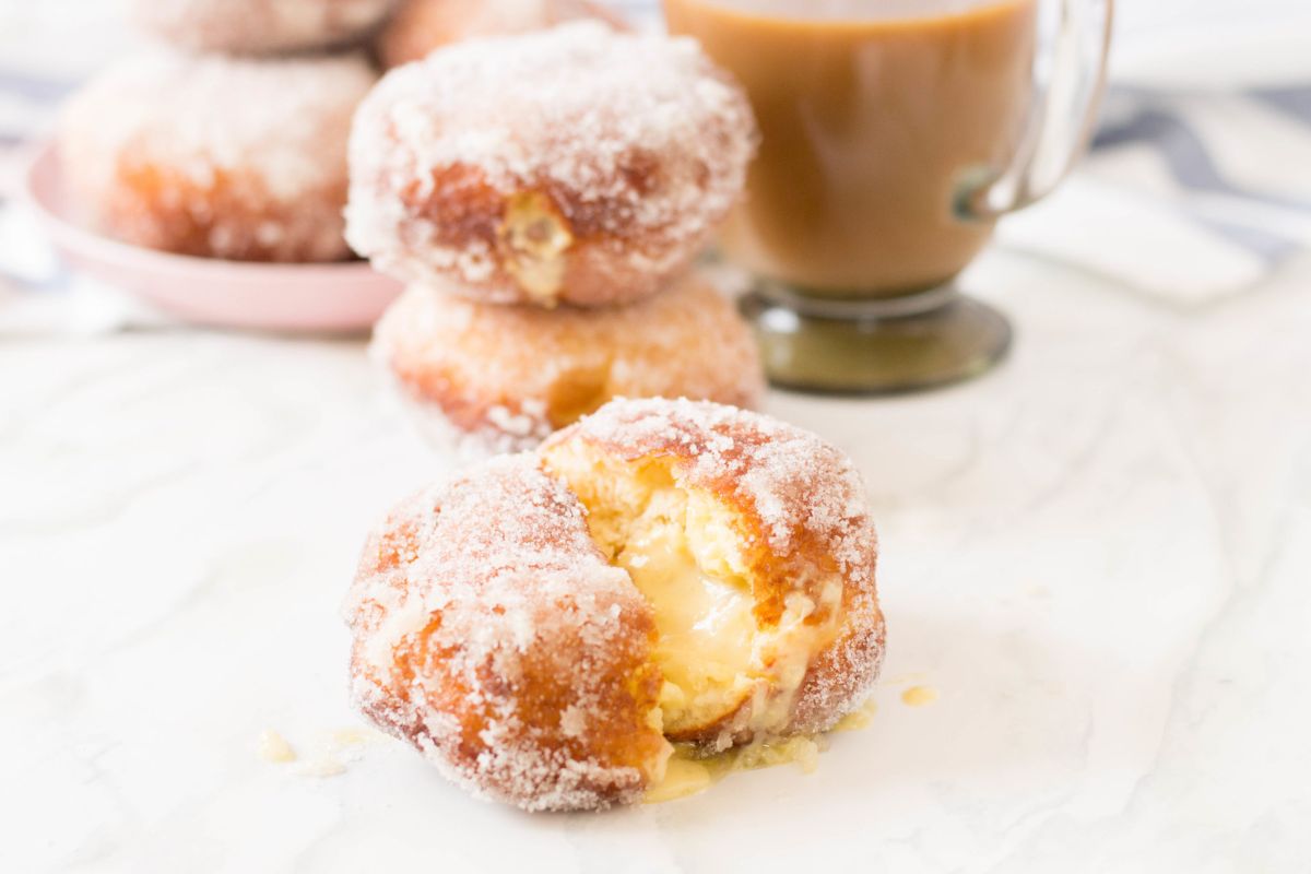
<path fill-rule="evenodd" d="M 576 238 L 564 300 L 615 303 L 707 242 L 754 151 L 745 94 L 691 39 L 595 21 L 472 39 L 361 106 L 347 238 L 401 280 L 513 303 L 497 228 L 515 195 L 544 193 Z"/>

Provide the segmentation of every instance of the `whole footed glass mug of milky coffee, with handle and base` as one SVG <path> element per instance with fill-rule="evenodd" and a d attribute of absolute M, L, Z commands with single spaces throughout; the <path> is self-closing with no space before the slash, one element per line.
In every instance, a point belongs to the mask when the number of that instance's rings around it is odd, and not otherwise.
<path fill-rule="evenodd" d="M 760 123 L 720 242 L 755 276 L 771 381 L 911 390 L 1006 354 L 1006 317 L 956 276 L 1086 148 L 1113 3 L 665 0 Z"/>

